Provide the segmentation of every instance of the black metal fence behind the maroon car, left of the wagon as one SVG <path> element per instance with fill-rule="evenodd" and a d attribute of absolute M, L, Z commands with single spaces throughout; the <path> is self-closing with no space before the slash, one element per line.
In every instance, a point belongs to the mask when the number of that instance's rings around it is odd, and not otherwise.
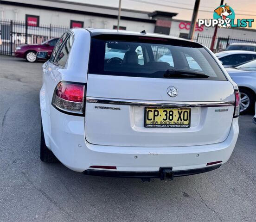
<path fill-rule="evenodd" d="M 0 54 L 13 56 L 18 45 L 40 44 L 60 37 L 68 29 L 57 25 L 28 26 L 25 22 L 0 20 Z"/>

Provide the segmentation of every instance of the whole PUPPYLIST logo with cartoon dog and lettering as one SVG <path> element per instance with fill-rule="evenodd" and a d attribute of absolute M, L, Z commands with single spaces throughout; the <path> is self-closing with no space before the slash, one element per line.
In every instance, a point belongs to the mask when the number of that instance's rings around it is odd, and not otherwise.
<path fill-rule="evenodd" d="M 213 19 L 198 19 L 198 27 L 205 25 L 205 27 L 231 28 L 242 27 L 251 28 L 254 19 L 235 19 L 234 10 L 227 5 L 218 6 L 213 12 Z"/>

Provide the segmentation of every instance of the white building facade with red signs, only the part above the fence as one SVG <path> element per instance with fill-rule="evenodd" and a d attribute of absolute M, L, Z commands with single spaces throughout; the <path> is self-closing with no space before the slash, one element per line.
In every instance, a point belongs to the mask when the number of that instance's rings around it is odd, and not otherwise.
<path fill-rule="evenodd" d="M 157 32 L 186 37 L 190 21 L 177 20 L 174 12 L 145 12 L 122 9 L 121 29 Z M 74 3 L 62 0 L 0 0 L 0 19 L 25 21 L 38 25 L 63 25 L 85 28 L 115 29 L 118 8 Z M 30 16 L 30 17 L 29 17 Z M 195 35 L 213 35 L 214 28 L 196 27 Z M 218 29 L 222 37 L 255 38 L 256 30 L 232 28 Z"/>

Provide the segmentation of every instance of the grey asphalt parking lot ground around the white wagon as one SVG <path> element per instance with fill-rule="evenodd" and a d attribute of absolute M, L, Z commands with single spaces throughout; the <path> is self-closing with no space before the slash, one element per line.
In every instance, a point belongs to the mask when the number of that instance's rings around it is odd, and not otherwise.
<path fill-rule="evenodd" d="M 230 160 L 163 182 L 86 176 L 39 159 L 42 62 L 0 56 L 0 221 L 256 221 L 256 125 Z"/>

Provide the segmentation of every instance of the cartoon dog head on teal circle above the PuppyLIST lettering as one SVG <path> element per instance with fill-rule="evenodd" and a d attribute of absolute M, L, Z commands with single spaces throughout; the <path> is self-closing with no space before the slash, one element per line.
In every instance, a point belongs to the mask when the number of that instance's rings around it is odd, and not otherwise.
<path fill-rule="evenodd" d="M 235 19 L 235 12 L 230 6 L 219 6 L 214 10 L 214 12 L 213 18 L 219 20 L 218 27 L 231 27 L 230 19 Z"/>

